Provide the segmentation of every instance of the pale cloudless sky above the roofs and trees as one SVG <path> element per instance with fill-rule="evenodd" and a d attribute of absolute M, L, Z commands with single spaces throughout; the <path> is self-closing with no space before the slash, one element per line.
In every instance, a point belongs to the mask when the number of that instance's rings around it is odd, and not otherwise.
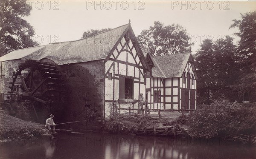
<path fill-rule="evenodd" d="M 165 26 L 180 24 L 190 37 L 192 54 L 205 39 L 217 40 L 226 35 L 238 37 L 230 28 L 232 20 L 241 19 L 241 13 L 256 10 L 256 1 L 95 1 L 95 0 L 28 0 L 32 11 L 25 20 L 35 29 L 40 45 L 79 40 L 90 29 L 116 28 L 131 20 L 137 36 L 154 21 Z"/>

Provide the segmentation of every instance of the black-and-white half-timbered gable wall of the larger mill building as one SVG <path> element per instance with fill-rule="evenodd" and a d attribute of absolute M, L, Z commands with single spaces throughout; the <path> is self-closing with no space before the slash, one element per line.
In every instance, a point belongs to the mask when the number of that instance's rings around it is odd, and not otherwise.
<path fill-rule="evenodd" d="M 110 114 L 113 104 L 119 108 L 138 108 L 137 104 L 117 102 L 140 99 L 140 93 L 145 97 L 143 65 L 131 40 L 123 37 L 118 43 L 105 62 L 105 74 L 105 115 Z"/>

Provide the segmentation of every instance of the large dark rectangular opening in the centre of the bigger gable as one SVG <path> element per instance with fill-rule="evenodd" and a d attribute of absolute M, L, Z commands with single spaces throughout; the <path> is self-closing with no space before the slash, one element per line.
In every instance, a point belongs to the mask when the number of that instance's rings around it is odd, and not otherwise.
<path fill-rule="evenodd" d="M 133 99 L 133 79 L 119 77 L 119 99 Z"/>

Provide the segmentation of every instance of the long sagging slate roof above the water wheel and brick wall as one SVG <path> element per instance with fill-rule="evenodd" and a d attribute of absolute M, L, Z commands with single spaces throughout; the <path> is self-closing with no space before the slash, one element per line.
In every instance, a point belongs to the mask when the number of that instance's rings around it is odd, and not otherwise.
<path fill-rule="evenodd" d="M 30 51 L 32 48 L 26 48 L 12 51 L 9 54 L 17 54 L 16 59 L 41 60 L 47 58 L 58 65 L 104 60 L 128 25 L 119 26 L 81 40 L 48 44 L 44 47 L 41 46 L 40 49 L 32 50 L 32 52 Z M 13 58 L 4 57 L 4 60 L 13 60 Z"/>

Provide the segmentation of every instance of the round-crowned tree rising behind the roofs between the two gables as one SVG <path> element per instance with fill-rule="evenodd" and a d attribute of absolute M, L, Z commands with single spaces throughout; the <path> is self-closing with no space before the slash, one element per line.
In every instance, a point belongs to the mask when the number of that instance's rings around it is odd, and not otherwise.
<path fill-rule="evenodd" d="M 163 26 L 163 23 L 155 21 L 154 26 L 143 30 L 137 39 L 142 49 L 153 56 L 191 52 L 189 35 L 178 24 Z"/>

